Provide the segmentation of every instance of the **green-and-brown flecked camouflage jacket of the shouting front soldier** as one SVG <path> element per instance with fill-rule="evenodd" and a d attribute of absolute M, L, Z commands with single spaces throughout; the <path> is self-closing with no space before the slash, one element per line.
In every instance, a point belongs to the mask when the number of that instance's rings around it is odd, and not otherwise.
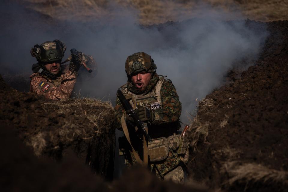
<path fill-rule="evenodd" d="M 159 81 L 159 77 L 157 74 L 154 75 L 154 77 L 151 79 L 150 84 L 148 88 L 146 89 L 146 94 L 152 91 L 152 89 L 156 86 L 157 82 Z M 137 92 L 137 88 L 131 84 L 131 82 L 128 82 L 122 87 L 128 87 L 128 90 L 135 93 L 140 94 Z M 173 135 L 173 133 L 176 133 L 179 129 L 179 117 L 181 115 L 181 102 L 179 101 L 179 96 L 176 93 L 176 88 L 169 80 L 164 80 L 161 85 L 161 103 L 162 106 L 159 109 L 156 109 L 154 111 L 155 114 L 155 120 L 148 125 L 148 133 L 152 138 L 159 138 L 159 137 L 169 137 L 170 135 Z M 121 127 L 121 117 L 124 113 L 124 108 L 121 105 L 121 102 L 117 96 L 116 99 L 116 107 L 115 107 L 115 114 L 116 114 L 116 128 L 119 130 L 122 130 Z M 132 144 L 137 143 L 137 136 L 134 134 L 130 135 L 130 139 Z M 137 145 L 137 144 L 136 144 Z M 141 156 L 143 151 L 143 144 L 138 142 L 138 154 Z M 134 145 L 133 145 L 134 146 Z M 131 166 L 136 162 L 133 153 L 131 152 L 131 146 L 127 142 L 126 138 L 120 138 L 119 139 L 119 148 L 121 150 L 121 153 L 125 155 L 125 164 L 128 166 Z M 134 147 L 137 148 L 137 147 Z M 175 168 L 179 163 L 181 162 L 180 157 L 177 153 L 174 153 L 173 151 L 169 152 L 169 156 L 164 161 L 154 162 L 153 164 L 150 164 L 151 170 L 153 168 L 156 168 L 160 175 L 163 176 L 173 168 Z"/>

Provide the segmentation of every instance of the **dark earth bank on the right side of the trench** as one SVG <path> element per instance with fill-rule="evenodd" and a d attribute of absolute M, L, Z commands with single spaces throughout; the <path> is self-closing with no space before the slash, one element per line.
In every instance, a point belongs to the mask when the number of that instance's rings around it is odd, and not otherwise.
<path fill-rule="evenodd" d="M 288 21 L 268 22 L 255 66 L 199 102 L 190 176 L 223 191 L 288 187 Z"/>

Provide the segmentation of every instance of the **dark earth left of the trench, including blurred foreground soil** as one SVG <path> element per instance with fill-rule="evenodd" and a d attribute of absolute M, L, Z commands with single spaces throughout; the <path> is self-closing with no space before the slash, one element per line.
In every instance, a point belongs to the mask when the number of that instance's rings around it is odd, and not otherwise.
<path fill-rule="evenodd" d="M 115 146 L 108 114 L 113 116 L 113 108 L 108 103 L 92 99 L 41 102 L 7 86 L 1 76 L 0 96 L 1 191 L 208 192 L 196 184 L 161 182 L 140 167 L 117 181 L 105 182 L 113 173 Z M 84 114 L 74 112 L 79 108 Z"/>

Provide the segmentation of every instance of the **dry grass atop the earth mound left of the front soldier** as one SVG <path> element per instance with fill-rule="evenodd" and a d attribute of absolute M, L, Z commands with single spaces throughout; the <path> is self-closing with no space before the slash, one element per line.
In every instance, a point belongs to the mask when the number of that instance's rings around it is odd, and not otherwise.
<path fill-rule="evenodd" d="M 81 98 L 41 103 L 50 119 L 59 121 L 53 129 L 39 130 L 28 144 L 35 154 L 55 150 L 59 145 L 69 146 L 74 141 L 90 142 L 113 127 L 114 109 L 110 102 Z M 62 118 L 58 118 L 62 117 Z"/>

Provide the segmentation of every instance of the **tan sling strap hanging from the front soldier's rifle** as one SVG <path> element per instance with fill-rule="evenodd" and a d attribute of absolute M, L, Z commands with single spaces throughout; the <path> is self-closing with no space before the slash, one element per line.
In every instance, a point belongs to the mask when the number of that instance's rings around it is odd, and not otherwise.
<path fill-rule="evenodd" d="M 147 146 L 147 141 L 146 141 L 146 139 L 143 136 L 143 155 L 144 156 L 143 156 L 143 161 L 142 161 L 140 159 L 140 156 L 138 155 L 138 153 L 135 151 L 134 147 L 131 144 L 128 128 L 127 128 L 127 125 L 126 125 L 126 122 L 125 122 L 125 115 L 126 115 L 126 112 L 124 112 L 122 117 L 121 117 L 121 125 L 122 125 L 123 132 L 125 134 L 125 137 L 128 140 L 128 142 L 129 142 L 129 144 L 130 144 L 130 146 L 132 148 L 132 152 L 133 152 L 133 155 L 134 155 L 137 163 L 142 164 L 143 166 L 146 167 L 146 166 L 148 166 L 148 146 Z"/>

